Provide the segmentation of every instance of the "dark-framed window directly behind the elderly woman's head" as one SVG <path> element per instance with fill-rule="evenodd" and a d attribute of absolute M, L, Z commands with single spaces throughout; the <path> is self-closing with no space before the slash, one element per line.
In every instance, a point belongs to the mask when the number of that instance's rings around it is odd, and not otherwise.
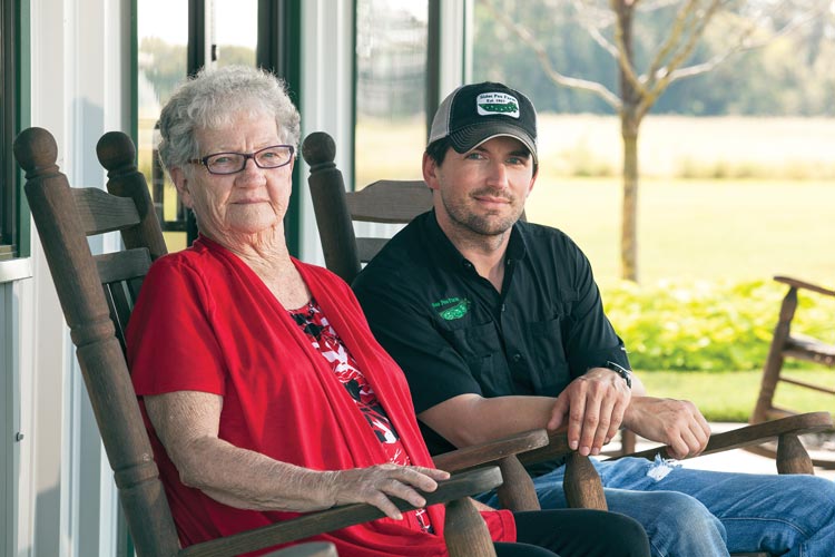
<path fill-rule="evenodd" d="M 137 10 L 137 152 L 169 251 L 185 247 L 196 224 L 156 156 L 159 110 L 206 63 L 262 66 L 297 84 L 298 0 L 144 0 Z M 258 43 L 263 41 L 264 47 Z M 292 202 L 294 203 L 294 202 Z M 296 202 L 297 203 L 297 202 Z M 291 207 L 289 214 L 297 213 Z M 291 216 L 291 218 L 294 218 Z M 295 217 L 297 219 L 297 217 Z M 294 251 L 295 234 L 288 233 Z"/>

